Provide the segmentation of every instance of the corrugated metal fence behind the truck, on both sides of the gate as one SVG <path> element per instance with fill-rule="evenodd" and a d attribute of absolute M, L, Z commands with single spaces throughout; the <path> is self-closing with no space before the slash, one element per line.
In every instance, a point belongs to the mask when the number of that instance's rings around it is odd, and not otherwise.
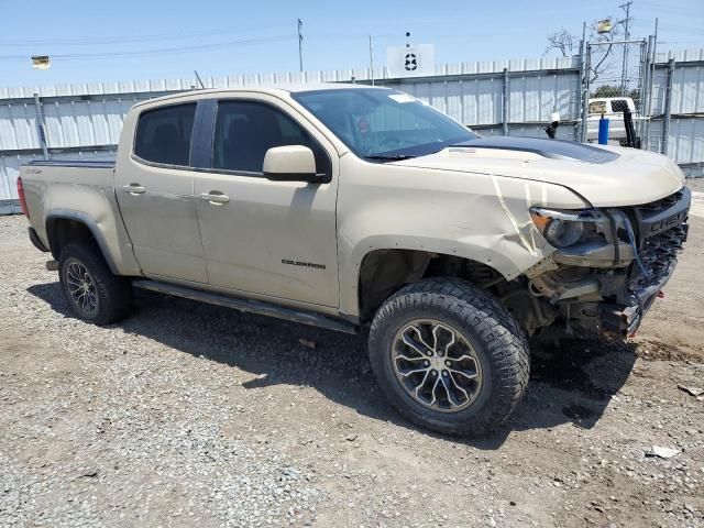
<path fill-rule="evenodd" d="M 669 96 L 668 63 L 674 58 L 671 119 L 664 130 Z M 658 54 L 653 77 L 653 118 L 647 144 L 678 163 L 704 162 L 704 50 Z M 576 139 L 581 111 L 580 59 L 541 58 L 439 65 L 424 78 L 384 78 L 380 85 L 422 99 L 483 134 L 542 136 L 559 111 L 561 138 Z M 209 88 L 320 81 L 370 82 L 369 69 L 210 77 Z M 43 157 L 95 157 L 114 151 L 122 120 L 139 100 L 193 89 L 195 78 L 0 88 L 0 200 L 16 198 L 19 167 Z M 35 97 L 35 94 L 37 97 Z M 41 141 L 43 122 L 45 142 Z M 667 133 L 666 133 L 667 132 Z M 6 204 L 7 206 L 7 204 Z"/>

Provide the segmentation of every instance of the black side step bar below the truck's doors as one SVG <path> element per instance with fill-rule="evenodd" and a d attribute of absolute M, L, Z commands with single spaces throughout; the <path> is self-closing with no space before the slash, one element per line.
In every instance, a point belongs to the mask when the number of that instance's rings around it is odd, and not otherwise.
<path fill-rule="evenodd" d="M 173 284 L 161 283 L 158 280 L 146 280 L 142 278 L 132 280 L 132 286 L 141 289 L 148 289 L 150 292 L 158 292 L 160 294 L 168 294 L 175 295 L 176 297 L 184 297 L 186 299 L 200 300 L 201 302 L 208 302 L 210 305 L 224 306 L 227 308 L 233 308 L 235 310 L 246 311 L 250 314 L 258 314 L 261 316 L 276 317 L 278 319 L 286 319 L 288 321 L 310 324 L 312 327 L 327 328 L 328 330 L 336 330 L 338 332 L 360 332 L 360 328 L 356 324 L 343 319 L 322 316 L 314 311 L 278 306 L 263 300 L 229 297 L 227 295 L 200 292 L 185 286 L 176 286 Z"/>

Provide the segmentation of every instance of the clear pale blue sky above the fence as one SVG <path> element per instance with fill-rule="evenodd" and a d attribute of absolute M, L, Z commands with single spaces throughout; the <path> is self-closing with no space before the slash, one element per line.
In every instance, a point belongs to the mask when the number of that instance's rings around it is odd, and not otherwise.
<path fill-rule="evenodd" d="M 0 86 L 296 72 L 297 18 L 305 69 L 367 65 L 370 34 L 383 64 L 406 31 L 437 63 L 534 58 L 553 31 L 623 16 L 623 1 L 0 0 Z M 631 15 L 634 37 L 659 16 L 661 50 L 704 47 L 703 0 L 634 0 Z M 33 70 L 31 55 L 56 58 Z"/>

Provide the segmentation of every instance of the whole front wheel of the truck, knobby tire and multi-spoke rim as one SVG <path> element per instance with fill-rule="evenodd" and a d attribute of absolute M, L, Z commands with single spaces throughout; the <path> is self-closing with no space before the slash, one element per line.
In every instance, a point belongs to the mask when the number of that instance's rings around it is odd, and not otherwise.
<path fill-rule="evenodd" d="M 370 359 L 402 415 L 448 435 L 492 431 L 528 384 L 518 321 L 490 294 L 455 278 L 413 284 L 386 300 L 372 322 Z"/>

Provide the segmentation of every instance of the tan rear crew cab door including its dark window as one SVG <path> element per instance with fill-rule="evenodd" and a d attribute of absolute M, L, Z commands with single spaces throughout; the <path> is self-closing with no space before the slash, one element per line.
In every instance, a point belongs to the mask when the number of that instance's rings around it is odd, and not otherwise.
<path fill-rule="evenodd" d="M 134 256 L 153 278 L 208 282 L 190 166 L 196 102 L 160 105 L 125 123 L 116 193 Z M 133 144 L 132 144 L 133 142 Z"/>

